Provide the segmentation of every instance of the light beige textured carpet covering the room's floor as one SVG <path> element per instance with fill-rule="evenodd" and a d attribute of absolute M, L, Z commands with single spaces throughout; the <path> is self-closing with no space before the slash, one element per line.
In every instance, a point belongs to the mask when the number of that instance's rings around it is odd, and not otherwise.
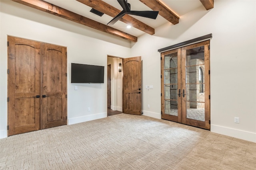
<path fill-rule="evenodd" d="M 256 170 L 256 143 L 119 114 L 0 139 L 1 170 Z"/>

